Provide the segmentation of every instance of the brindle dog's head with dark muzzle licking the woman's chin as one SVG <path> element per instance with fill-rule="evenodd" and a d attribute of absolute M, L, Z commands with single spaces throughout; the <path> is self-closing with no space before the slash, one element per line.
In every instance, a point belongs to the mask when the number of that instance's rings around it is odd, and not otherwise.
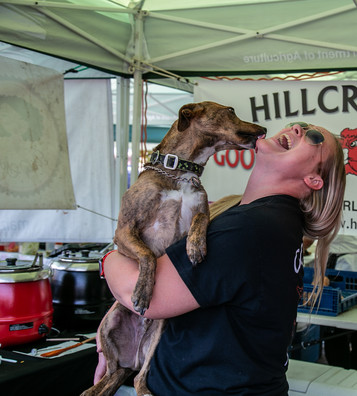
<path fill-rule="evenodd" d="M 181 107 L 177 130 L 183 132 L 188 128 L 204 134 L 205 144 L 215 151 L 254 148 L 257 139 L 266 135 L 266 128 L 242 121 L 233 107 L 208 101 Z"/>

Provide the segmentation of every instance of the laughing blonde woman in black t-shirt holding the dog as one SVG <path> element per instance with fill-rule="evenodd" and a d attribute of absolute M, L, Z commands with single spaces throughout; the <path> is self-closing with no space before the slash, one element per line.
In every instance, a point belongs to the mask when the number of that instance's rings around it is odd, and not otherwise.
<path fill-rule="evenodd" d="M 168 319 L 148 375 L 155 396 L 288 394 L 302 238 L 318 239 L 321 285 L 344 188 L 342 149 L 327 130 L 296 122 L 258 140 L 240 203 L 233 197 L 212 207 L 223 213 L 210 224 L 205 260 L 192 267 L 184 240 L 158 259 L 145 313 Z M 105 274 L 114 296 L 133 310 L 136 262 L 113 252 Z"/>

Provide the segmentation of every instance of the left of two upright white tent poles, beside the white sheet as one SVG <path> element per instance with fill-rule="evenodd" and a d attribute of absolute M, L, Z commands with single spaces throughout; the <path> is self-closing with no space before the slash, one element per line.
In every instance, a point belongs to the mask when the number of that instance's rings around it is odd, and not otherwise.
<path fill-rule="evenodd" d="M 129 79 L 118 77 L 116 111 L 116 158 L 115 158 L 115 199 L 114 217 L 119 213 L 120 202 L 128 188 L 128 147 L 129 147 Z"/>

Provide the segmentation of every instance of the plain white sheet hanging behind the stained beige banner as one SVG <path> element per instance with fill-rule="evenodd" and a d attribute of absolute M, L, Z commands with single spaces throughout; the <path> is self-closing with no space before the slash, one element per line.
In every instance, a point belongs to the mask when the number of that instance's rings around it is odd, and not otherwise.
<path fill-rule="evenodd" d="M 1 242 L 112 241 L 116 221 L 107 217 L 117 217 L 117 213 L 113 213 L 111 106 L 109 80 L 65 81 L 69 158 L 76 202 L 81 208 L 2 210 Z M 61 188 L 59 185 L 58 194 Z"/>

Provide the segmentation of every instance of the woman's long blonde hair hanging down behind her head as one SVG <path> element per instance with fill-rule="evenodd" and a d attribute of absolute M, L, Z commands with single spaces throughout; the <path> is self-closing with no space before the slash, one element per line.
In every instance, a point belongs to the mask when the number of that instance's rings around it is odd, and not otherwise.
<path fill-rule="evenodd" d="M 322 132 L 328 132 L 324 128 L 314 126 Z M 334 136 L 334 135 L 332 135 Z M 344 155 L 339 139 L 334 136 L 335 150 L 329 158 L 320 164 L 321 177 L 324 185 L 320 190 L 300 200 L 305 223 L 303 233 L 307 238 L 317 240 L 314 263 L 314 289 L 311 294 L 312 307 L 321 296 L 323 281 L 326 271 L 329 246 L 335 238 L 341 226 L 342 204 L 346 187 L 346 172 Z M 229 195 L 210 205 L 210 219 L 213 220 L 219 214 L 242 199 L 242 195 Z"/>

